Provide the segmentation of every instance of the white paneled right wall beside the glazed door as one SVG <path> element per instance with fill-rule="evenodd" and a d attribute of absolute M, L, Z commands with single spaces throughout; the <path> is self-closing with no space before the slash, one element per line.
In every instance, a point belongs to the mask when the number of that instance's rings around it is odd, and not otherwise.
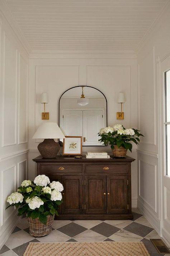
<path fill-rule="evenodd" d="M 162 136 L 159 130 L 158 116 L 160 113 L 160 90 L 163 90 L 160 83 L 160 77 L 162 77 L 160 66 L 161 61 L 170 54 L 169 12 L 170 5 L 147 33 L 137 54 L 139 127 L 145 135 L 138 147 L 138 207 L 161 235 L 161 200 L 163 200 L 161 176 L 164 174 L 164 170 L 160 168 Z M 170 237 L 170 230 L 168 236 Z M 167 237 L 164 238 L 167 239 Z"/>

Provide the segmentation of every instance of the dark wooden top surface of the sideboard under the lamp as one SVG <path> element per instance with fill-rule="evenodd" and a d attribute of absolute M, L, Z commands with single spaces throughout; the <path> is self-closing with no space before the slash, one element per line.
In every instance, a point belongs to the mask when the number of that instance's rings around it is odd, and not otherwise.
<path fill-rule="evenodd" d="M 112 157 L 112 156 L 111 156 Z M 82 158 L 76 159 L 74 157 L 69 156 L 57 156 L 55 158 L 43 158 L 42 156 L 38 156 L 33 159 L 34 162 L 133 162 L 135 159 L 129 156 L 126 157 L 120 157 L 120 158 L 92 158 L 92 159 L 86 159 L 85 156 L 82 156 Z"/>

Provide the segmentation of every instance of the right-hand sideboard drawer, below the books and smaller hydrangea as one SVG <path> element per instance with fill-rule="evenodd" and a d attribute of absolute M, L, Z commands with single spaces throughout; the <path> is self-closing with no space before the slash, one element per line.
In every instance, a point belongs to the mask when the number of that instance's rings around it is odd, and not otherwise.
<path fill-rule="evenodd" d="M 110 164 L 102 164 L 102 165 L 86 165 L 86 173 L 92 172 L 102 172 L 102 173 L 127 173 L 127 165 L 110 165 Z"/>

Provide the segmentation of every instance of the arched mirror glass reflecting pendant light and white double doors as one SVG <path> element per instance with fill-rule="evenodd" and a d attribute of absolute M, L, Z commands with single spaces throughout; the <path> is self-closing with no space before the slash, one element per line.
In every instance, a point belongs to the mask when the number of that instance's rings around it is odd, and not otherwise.
<path fill-rule="evenodd" d="M 107 101 L 90 86 L 76 86 L 59 100 L 60 128 L 68 136 L 82 136 L 83 146 L 102 146 L 98 132 L 107 126 Z"/>

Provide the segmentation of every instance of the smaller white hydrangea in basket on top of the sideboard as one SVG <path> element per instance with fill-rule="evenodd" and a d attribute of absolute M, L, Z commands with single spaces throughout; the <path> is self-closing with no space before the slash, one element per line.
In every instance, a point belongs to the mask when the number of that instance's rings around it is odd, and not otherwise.
<path fill-rule="evenodd" d="M 123 125 L 117 124 L 113 127 L 101 128 L 98 136 L 100 136 L 100 142 L 110 145 L 113 156 L 125 157 L 128 149 L 132 152 L 132 142 L 138 145 L 139 137 L 143 135 L 137 129 L 126 129 Z"/>

